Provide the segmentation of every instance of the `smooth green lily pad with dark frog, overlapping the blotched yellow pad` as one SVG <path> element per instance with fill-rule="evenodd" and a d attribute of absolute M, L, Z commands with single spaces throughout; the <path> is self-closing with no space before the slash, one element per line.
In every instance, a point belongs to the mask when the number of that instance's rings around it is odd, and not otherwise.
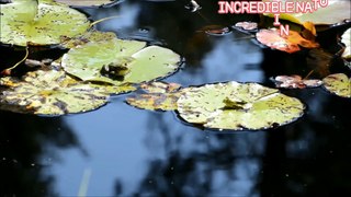
<path fill-rule="evenodd" d="M 173 73 L 180 66 L 180 56 L 145 42 L 109 39 L 92 42 L 70 49 L 63 57 L 63 68 L 83 81 L 112 84 L 140 83 Z M 123 79 L 114 79 L 117 72 L 104 73 L 105 67 L 126 68 Z M 113 70 L 112 70 L 113 71 Z"/>

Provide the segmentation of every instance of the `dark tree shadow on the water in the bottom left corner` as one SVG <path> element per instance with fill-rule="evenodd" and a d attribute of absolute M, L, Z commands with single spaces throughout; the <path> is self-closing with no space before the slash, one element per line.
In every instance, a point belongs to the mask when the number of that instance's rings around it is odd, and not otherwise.
<path fill-rule="evenodd" d="M 57 196 L 45 170 L 57 162 L 55 148 L 79 147 L 61 118 L 0 111 L 0 196 Z"/>

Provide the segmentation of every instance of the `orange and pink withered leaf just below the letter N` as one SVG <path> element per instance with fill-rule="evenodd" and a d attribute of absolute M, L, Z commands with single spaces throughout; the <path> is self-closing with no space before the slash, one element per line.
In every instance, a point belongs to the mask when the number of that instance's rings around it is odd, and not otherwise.
<path fill-rule="evenodd" d="M 257 39 L 270 48 L 286 53 L 295 53 L 301 50 L 299 46 L 305 48 L 316 48 L 318 43 L 303 38 L 297 32 L 290 31 L 288 36 L 281 36 L 279 30 L 260 30 Z M 299 45 L 299 46 L 298 46 Z"/>

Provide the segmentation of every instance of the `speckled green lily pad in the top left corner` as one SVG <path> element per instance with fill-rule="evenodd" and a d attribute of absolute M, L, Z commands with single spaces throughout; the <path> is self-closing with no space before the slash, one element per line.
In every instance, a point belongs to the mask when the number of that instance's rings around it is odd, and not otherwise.
<path fill-rule="evenodd" d="M 0 43 L 19 46 L 59 44 L 90 27 L 83 13 L 52 0 L 15 0 L 1 4 L 0 15 Z"/>

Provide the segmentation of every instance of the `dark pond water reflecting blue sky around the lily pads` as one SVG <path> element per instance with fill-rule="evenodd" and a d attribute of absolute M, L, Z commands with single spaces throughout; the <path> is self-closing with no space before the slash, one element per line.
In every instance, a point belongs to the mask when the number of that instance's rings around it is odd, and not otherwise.
<path fill-rule="evenodd" d="M 148 40 L 184 57 L 165 79 L 183 86 L 241 81 L 269 86 L 278 74 L 306 74 L 304 55 L 259 47 L 230 27 L 253 15 L 219 15 L 217 2 L 124 1 L 84 9 L 122 38 Z M 21 54 L 1 47 L 5 62 Z M 306 68 L 306 69 L 305 69 Z M 317 74 L 318 76 L 318 74 Z M 351 101 L 321 88 L 283 90 L 306 114 L 275 129 L 216 132 L 173 112 L 128 106 L 113 96 L 97 111 L 37 117 L 0 111 L 1 196 L 339 196 L 351 195 Z M 344 194 L 346 195 L 346 194 Z"/>

